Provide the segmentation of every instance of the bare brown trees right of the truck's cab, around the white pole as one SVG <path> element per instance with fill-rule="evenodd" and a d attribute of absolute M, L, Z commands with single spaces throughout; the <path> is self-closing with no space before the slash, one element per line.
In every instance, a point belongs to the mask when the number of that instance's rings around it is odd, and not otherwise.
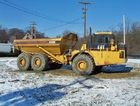
<path fill-rule="evenodd" d="M 125 42 L 127 45 L 128 55 L 140 55 L 140 22 L 126 21 L 126 36 Z M 123 24 L 118 25 L 118 30 L 111 30 L 117 37 L 118 42 L 123 42 Z"/>

